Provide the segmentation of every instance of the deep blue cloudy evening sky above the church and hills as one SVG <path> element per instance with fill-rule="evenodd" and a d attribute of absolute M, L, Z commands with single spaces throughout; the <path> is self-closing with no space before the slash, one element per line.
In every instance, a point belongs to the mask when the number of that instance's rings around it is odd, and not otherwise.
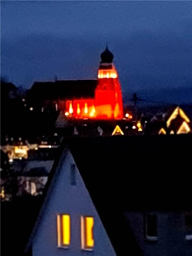
<path fill-rule="evenodd" d="M 124 95 L 189 101 L 191 17 L 191 1 L 1 1 L 1 76 L 94 79 L 108 43 Z"/>

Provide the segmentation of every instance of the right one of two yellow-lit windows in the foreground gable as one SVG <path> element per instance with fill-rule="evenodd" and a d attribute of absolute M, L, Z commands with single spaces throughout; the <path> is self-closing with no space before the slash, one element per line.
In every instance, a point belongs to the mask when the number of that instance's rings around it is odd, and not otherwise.
<path fill-rule="evenodd" d="M 81 216 L 81 248 L 83 250 L 93 250 L 93 226 L 94 219 L 92 216 Z"/>

